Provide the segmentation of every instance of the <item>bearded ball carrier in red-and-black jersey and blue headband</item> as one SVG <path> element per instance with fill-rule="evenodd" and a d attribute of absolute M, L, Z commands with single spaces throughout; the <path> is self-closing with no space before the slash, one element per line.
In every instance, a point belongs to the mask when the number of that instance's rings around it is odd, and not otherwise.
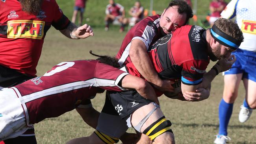
<path fill-rule="evenodd" d="M 150 47 L 149 57 L 161 78 L 181 81 L 177 83 L 181 85 L 185 100 L 200 101 L 209 95 L 194 98 L 185 92 L 195 92 L 202 87 L 209 89 L 210 93 L 211 81 L 236 61 L 231 52 L 237 50 L 242 41 L 243 33 L 237 24 L 221 18 L 208 30 L 190 25 L 176 29 Z M 219 61 L 206 73 L 210 59 Z M 141 77 L 132 64 L 126 64 L 126 67 L 128 72 Z M 145 100 L 135 91 L 107 91 L 106 94 L 95 133 L 71 140 L 68 144 L 80 144 L 84 140 L 89 144 L 112 144 L 114 138 L 119 138 L 131 126 L 155 143 L 175 143 L 171 122 L 166 120 L 159 105 Z M 109 106 L 110 102 L 113 107 Z"/>

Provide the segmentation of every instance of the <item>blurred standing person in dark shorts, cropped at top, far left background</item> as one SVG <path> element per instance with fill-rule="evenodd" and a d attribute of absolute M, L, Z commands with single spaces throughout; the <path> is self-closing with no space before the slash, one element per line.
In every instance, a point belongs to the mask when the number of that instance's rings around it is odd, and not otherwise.
<path fill-rule="evenodd" d="M 78 26 L 82 26 L 83 22 L 83 13 L 85 11 L 87 0 L 75 0 L 74 12 L 72 16 L 72 22 L 75 24 L 76 16 L 78 11 L 80 11 L 80 15 L 78 15 Z"/>

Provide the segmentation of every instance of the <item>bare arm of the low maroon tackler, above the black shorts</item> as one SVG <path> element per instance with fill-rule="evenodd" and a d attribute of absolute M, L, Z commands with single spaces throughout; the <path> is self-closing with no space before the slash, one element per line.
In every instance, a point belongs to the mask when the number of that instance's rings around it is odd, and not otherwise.
<path fill-rule="evenodd" d="M 153 102 L 159 103 L 153 87 L 144 79 L 132 75 L 126 75 L 121 81 L 121 87 L 135 89 L 141 96 Z"/>

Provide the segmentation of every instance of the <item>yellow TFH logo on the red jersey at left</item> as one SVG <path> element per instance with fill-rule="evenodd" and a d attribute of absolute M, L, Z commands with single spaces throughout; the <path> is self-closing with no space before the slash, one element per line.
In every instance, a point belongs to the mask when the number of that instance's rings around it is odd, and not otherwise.
<path fill-rule="evenodd" d="M 11 20 L 8 21 L 7 38 L 42 39 L 45 22 L 37 20 Z"/>

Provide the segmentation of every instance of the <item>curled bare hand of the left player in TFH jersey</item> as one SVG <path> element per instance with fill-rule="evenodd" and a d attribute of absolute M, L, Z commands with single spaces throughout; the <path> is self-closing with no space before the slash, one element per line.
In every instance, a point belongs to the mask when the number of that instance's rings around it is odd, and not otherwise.
<path fill-rule="evenodd" d="M 91 26 L 89 26 L 88 24 L 84 24 L 83 26 L 80 26 L 76 29 L 75 35 L 80 39 L 85 39 L 89 36 L 93 36 L 94 33 Z"/>

